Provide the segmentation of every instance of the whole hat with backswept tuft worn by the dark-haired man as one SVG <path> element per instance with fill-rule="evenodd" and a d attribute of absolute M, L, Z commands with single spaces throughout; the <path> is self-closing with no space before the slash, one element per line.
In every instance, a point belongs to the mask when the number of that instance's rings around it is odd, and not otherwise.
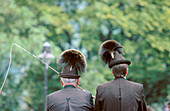
<path fill-rule="evenodd" d="M 131 62 L 122 56 L 122 54 L 124 54 L 122 48 L 123 46 L 119 42 L 115 40 L 107 40 L 101 44 L 99 48 L 99 56 L 109 68 L 118 64 L 130 65 Z"/>

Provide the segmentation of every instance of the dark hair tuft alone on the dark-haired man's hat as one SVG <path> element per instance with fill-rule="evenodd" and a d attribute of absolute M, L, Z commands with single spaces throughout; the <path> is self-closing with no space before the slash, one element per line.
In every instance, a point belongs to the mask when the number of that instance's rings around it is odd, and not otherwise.
<path fill-rule="evenodd" d="M 122 50 L 123 46 L 115 40 L 107 40 L 103 42 L 99 48 L 99 56 L 105 64 L 111 62 L 114 59 L 115 52 L 124 54 Z"/>

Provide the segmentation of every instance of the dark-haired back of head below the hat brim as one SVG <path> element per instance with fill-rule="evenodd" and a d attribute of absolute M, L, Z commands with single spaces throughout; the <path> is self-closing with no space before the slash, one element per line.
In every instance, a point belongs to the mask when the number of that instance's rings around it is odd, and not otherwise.
<path fill-rule="evenodd" d="M 128 65 L 127 64 L 119 64 L 112 67 L 112 73 L 114 77 L 125 77 L 127 72 Z"/>

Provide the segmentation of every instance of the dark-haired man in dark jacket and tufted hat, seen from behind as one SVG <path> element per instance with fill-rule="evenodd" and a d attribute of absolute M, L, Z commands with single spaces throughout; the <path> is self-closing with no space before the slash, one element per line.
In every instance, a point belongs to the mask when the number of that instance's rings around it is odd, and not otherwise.
<path fill-rule="evenodd" d="M 99 55 L 111 69 L 114 80 L 97 87 L 95 111 L 147 111 L 142 84 L 126 80 L 131 62 L 121 55 L 122 48 L 114 40 L 100 47 Z"/>

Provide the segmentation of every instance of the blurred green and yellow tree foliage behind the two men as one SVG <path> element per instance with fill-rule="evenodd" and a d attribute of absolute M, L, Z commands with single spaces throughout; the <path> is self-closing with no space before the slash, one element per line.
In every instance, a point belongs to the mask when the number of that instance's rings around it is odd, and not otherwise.
<path fill-rule="evenodd" d="M 113 79 L 98 57 L 100 44 L 117 40 L 132 61 L 127 79 L 142 83 L 148 105 L 156 111 L 170 99 L 170 2 L 168 0 L 0 0 L 0 84 L 17 43 L 39 55 L 51 44 L 51 66 L 70 48 L 87 59 L 80 86 L 95 95 L 97 85 Z M 1 111 L 43 110 L 44 66 L 14 47 L 12 67 L 0 95 Z M 59 77 L 48 70 L 48 94 L 61 89 Z"/>

